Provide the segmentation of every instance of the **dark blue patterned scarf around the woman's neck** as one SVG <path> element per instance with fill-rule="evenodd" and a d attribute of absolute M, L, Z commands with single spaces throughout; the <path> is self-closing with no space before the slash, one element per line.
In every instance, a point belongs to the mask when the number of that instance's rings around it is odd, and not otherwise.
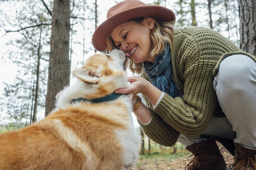
<path fill-rule="evenodd" d="M 168 93 L 173 98 L 178 96 L 178 88 L 171 79 L 172 61 L 170 45 L 167 44 L 163 53 L 157 55 L 155 62 L 144 62 L 146 73 L 154 86 L 159 90 Z"/>

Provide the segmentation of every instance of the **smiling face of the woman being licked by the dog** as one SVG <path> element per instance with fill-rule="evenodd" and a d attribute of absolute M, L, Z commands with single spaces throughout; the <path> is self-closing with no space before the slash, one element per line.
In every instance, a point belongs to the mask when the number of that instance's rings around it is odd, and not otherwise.
<path fill-rule="evenodd" d="M 155 61 L 155 58 L 150 56 L 150 30 L 153 27 L 151 22 L 153 21 L 150 18 L 141 22 L 126 21 L 116 26 L 111 33 L 114 45 L 135 63 Z"/>

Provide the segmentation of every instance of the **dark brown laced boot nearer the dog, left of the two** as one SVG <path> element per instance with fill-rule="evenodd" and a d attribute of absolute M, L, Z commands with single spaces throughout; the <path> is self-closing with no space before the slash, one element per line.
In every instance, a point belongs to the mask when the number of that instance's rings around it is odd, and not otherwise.
<path fill-rule="evenodd" d="M 226 163 L 217 147 L 215 139 L 203 140 L 186 148 L 194 158 L 185 170 L 226 170 Z"/>

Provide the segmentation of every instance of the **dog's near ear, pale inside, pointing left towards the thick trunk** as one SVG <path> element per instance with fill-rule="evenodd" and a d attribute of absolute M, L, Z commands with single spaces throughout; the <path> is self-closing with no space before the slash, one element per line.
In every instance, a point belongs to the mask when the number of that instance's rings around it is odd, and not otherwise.
<path fill-rule="evenodd" d="M 73 70 L 72 75 L 88 83 L 97 83 L 100 75 L 97 75 L 94 70 L 88 70 L 83 67 Z"/>

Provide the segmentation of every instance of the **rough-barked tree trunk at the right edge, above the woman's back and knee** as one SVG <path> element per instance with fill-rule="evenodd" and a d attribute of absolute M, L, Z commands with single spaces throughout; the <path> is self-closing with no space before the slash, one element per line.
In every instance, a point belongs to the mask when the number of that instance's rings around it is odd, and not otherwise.
<path fill-rule="evenodd" d="M 255 54 L 256 0 L 238 0 L 240 18 L 240 48 L 252 55 Z"/>

